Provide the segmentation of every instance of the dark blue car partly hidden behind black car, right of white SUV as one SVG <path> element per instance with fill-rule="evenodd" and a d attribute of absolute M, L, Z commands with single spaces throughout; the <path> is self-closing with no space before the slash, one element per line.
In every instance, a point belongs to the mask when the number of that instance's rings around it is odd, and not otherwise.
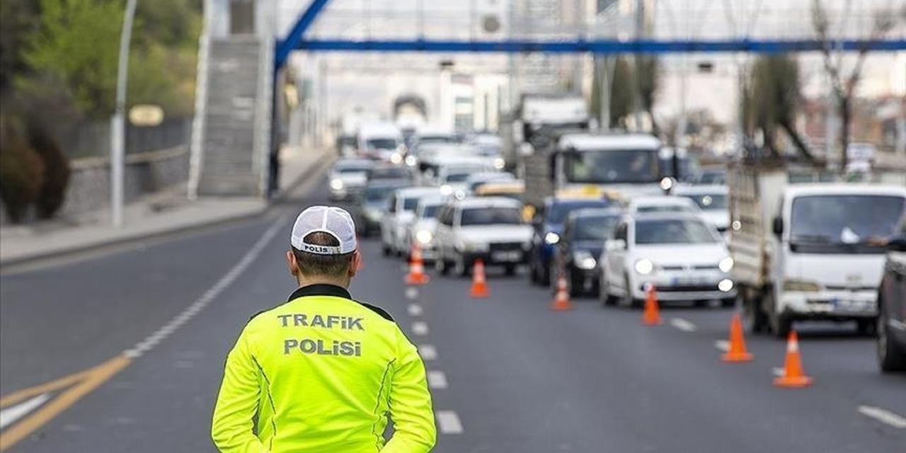
<path fill-rule="evenodd" d="M 611 207 L 609 198 L 547 198 L 545 205 L 535 213 L 532 225 L 532 249 L 528 255 L 528 275 L 534 284 L 551 284 L 551 256 L 554 246 L 560 242 L 566 217 L 575 209 L 589 207 Z"/>

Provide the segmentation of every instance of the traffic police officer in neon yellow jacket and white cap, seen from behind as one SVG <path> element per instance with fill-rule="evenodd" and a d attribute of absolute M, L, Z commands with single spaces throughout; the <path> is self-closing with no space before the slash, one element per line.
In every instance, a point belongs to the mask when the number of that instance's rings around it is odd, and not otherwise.
<path fill-rule="evenodd" d="M 217 448 L 428 452 L 437 432 L 415 346 L 389 314 L 347 291 L 361 261 L 352 217 L 309 207 L 290 242 L 299 288 L 256 314 L 226 357 L 211 428 Z M 387 415 L 394 433 L 385 444 Z"/>

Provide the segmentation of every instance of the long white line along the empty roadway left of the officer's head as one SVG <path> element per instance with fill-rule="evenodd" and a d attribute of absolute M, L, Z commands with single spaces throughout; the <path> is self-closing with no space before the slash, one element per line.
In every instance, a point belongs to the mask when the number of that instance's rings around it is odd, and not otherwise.
<path fill-rule="evenodd" d="M 255 262 L 258 255 L 261 255 L 261 252 L 264 251 L 265 246 L 267 246 L 267 244 L 271 242 L 271 239 L 276 236 L 277 232 L 284 227 L 288 218 L 289 217 L 286 216 L 278 218 L 270 228 L 267 228 L 265 234 L 258 238 L 255 245 L 248 249 L 246 255 L 243 255 L 242 259 L 240 259 L 226 275 L 220 277 L 220 280 L 217 280 L 217 283 L 214 284 L 214 286 L 211 286 L 205 294 L 201 294 L 201 297 L 188 305 L 185 310 L 177 314 L 169 321 L 169 323 L 164 324 L 147 338 L 124 351 L 123 354 L 130 359 L 140 357 L 142 354 L 149 352 L 152 348 L 157 346 L 159 342 L 165 340 L 170 334 L 176 332 L 183 324 L 188 323 L 188 321 L 200 313 L 207 304 L 213 302 L 220 293 L 223 293 L 230 284 L 233 284 L 233 282 L 236 281 L 236 278 L 239 278 L 239 275 L 246 272 L 248 266 Z"/>

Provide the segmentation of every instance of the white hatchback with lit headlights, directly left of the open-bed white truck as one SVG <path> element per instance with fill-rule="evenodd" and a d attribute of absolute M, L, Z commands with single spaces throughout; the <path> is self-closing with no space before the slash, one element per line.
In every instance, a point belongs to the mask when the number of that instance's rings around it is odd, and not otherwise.
<path fill-rule="evenodd" d="M 649 284 L 661 302 L 736 300 L 727 245 L 698 215 L 624 216 L 605 243 L 601 262 L 606 304 L 641 306 Z"/>

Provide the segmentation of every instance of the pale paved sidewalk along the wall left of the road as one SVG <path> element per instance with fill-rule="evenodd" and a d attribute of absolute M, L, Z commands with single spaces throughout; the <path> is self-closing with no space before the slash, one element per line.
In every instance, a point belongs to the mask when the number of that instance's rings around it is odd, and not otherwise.
<path fill-rule="evenodd" d="M 280 194 L 286 195 L 303 178 L 323 173 L 333 161 L 329 150 L 283 149 L 280 156 Z M 263 214 L 265 198 L 186 198 L 185 186 L 150 195 L 125 207 L 124 225 L 110 225 L 110 212 L 0 229 L 0 267 L 148 236 L 159 236 Z"/>

